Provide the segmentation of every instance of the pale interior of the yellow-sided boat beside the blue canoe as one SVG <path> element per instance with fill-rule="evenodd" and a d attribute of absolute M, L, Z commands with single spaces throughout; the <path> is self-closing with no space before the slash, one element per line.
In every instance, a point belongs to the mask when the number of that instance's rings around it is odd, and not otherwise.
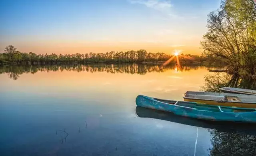
<path fill-rule="evenodd" d="M 256 96 L 232 94 L 232 93 L 210 93 L 210 92 L 187 91 L 185 93 L 185 98 L 204 99 L 204 100 L 212 100 L 212 101 L 231 101 L 231 102 L 238 102 L 238 103 L 239 102 L 256 103 Z"/>

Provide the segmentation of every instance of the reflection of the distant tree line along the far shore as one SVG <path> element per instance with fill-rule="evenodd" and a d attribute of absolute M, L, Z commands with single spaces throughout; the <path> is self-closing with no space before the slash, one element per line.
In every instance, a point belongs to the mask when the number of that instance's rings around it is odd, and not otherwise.
<path fill-rule="evenodd" d="M 150 72 L 164 72 L 174 70 L 176 66 L 162 67 L 160 65 L 145 64 L 122 64 L 122 65 L 32 65 L 32 66 L 4 66 L 0 67 L 0 74 L 7 73 L 10 79 L 18 79 L 22 73 L 37 73 L 42 71 L 77 71 L 77 72 L 107 72 L 107 73 L 129 73 L 144 75 Z M 179 71 L 197 69 L 195 66 L 182 66 Z"/>

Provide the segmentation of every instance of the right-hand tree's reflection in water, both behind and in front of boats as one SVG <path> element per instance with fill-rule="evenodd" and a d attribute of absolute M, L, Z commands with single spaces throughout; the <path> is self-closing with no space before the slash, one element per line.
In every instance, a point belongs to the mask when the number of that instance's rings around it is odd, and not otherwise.
<path fill-rule="evenodd" d="M 202 91 L 220 92 L 221 87 L 256 89 L 256 80 L 252 77 L 239 77 L 226 73 L 207 75 Z M 252 125 L 252 126 L 255 126 Z M 221 132 L 210 129 L 212 135 L 211 156 L 256 156 L 256 132 Z"/>

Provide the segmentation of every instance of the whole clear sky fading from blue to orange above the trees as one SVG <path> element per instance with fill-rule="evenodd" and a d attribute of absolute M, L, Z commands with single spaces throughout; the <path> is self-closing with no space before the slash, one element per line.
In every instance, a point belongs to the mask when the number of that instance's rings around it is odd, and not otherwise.
<path fill-rule="evenodd" d="M 0 52 L 200 54 L 220 0 L 0 0 Z"/>

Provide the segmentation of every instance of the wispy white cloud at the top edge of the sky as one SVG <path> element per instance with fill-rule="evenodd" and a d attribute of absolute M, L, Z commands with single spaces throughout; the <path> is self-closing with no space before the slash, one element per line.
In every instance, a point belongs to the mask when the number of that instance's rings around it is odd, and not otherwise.
<path fill-rule="evenodd" d="M 168 10 L 172 7 L 169 0 L 129 0 L 132 4 L 142 4 L 156 10 Z"/>

